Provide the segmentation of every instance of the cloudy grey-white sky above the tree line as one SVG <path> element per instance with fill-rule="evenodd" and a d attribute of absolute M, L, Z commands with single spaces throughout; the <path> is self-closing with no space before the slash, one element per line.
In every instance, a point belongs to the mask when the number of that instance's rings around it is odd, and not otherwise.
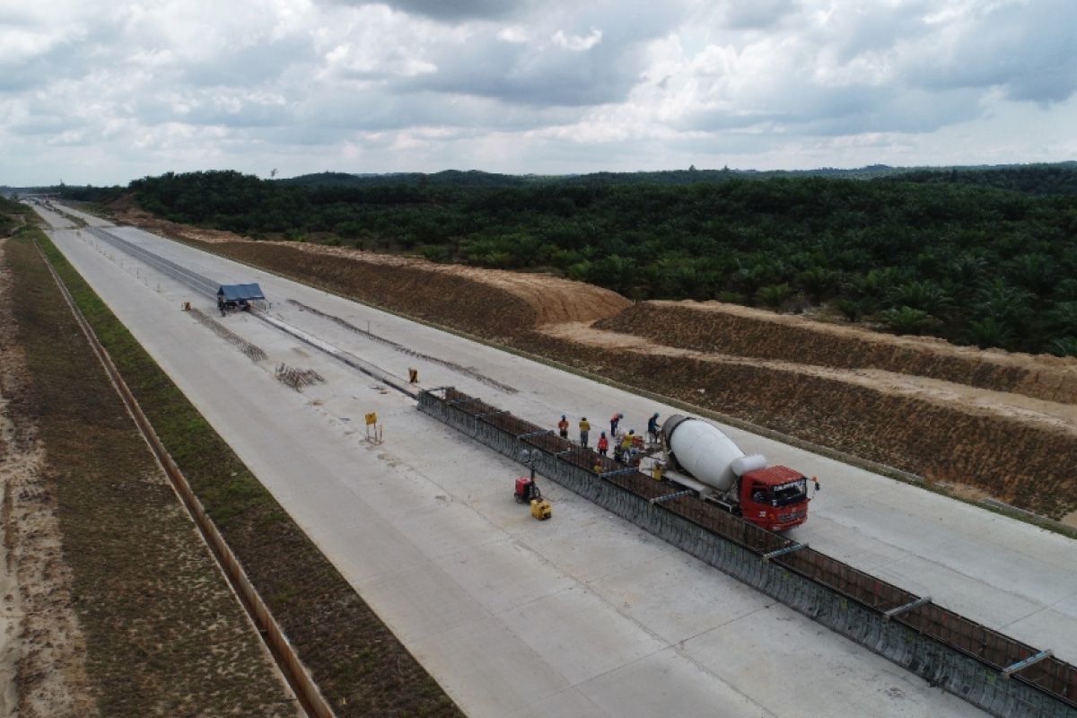
<path fill-rule="evenodd" d="M 1074 0 L 0 0 L 0 184 L 1077 158 Z"/>

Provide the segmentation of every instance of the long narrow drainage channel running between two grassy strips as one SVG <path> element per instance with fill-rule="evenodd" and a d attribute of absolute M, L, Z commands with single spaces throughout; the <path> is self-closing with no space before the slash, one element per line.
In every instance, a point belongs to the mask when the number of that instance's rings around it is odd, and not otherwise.
<path fill-rule="evenodd" d="M 154 431 L 153 425 L 150 424 L 150 420 L 146 419 L 145 414 L 142 412 L 142 407 L 139 406 L 138 399 L 131 393 L 127 383 L 124 381 L 123 377 L 120 375 L 120 370 L 116 365 L 112 363 L 112 357 L 104 350 L 104 347 L 97 338 L 97 334 L 94 332 L 89 322 L 83 316 L 79 307 L 74 302 L 74 298 L 71 293 L 68 292 L 67 285 L 56 273 L 53 265 L 48 262 L 45 253 L 41 250 L 41 247 L 34 240 L 34 247 L 38 249 L 38 253 L 41 254 L 41 261 L 45 263 L 48 268 L 48 272 L 53 277 L 53 281 L 56 282 L 56 286 L 59 287 L 60 294 L 64 296 L 64 300 L 67 302 L 68 307 L 71 309 L 71 313 L 74 315 L 79 327 L 85 335 L 86 340 L 89 342 L 90 348 L 97 355 L 97 358 L 101 362 L 104 367 L 106 374 L 109 375 L 109 379 L 112 384 L 116 388 L 116 393 L 120 394 L 120 398 L 123 400 L 124 406 L 127 407 L 127 411 L 130 413 L 131 418 L 135 420 L 135 424 L 138 426 L 139 432 L 145 438 L 146 444 L 150 445 L 150 449 L 153 451 L 154 456 L 160 463 L 162 468 L 168 476 L 169 481 L 172 484 L 172 489 L 176 491 L 184 508 L 190 513 L 191 518 L 194 520 L 195 525 L 198 526 L 198 531 L 202 538 L 206 540 L 207 546 L 210 549 L 210 553 L 216 559 L 218 564 L 221 566 L 221 571 L 224 573 L 225 577 L 228 579 L 228 583 L 232 586 L 240 605 L 247 611 L 251 621 L 257 628 L 258 635 L 265 642 L 266 646 L 269 648 L 269 652 L 272 654 L 281 673 L 284 675 L 292 690 L 295 691 L 296 698 L 299 700 L 299 704 L 303 706 L 304 712 L 311 716 L 311 718 L 334 718 L 335 713 L 330 706 L 328 701 L 322 695 L 321 690 L 314 682 L 314 679 L 310 676 L 306 666 L 299 660 L 298 654 L 292 647 L 291 642 L 284 634 L 283 629 L 277 623 L 277 619 L 274 618 L 272 614 L 269 611 L 269 607 L 266 606 L 262 596 L 258 594 L 257 589 L 251 583 L 250 578 L 247 576 L 247 572 L 243 571 L 242 565 L 233 553 L 232 548 L 224 540 L 224 536 L 218 531 L 216 525 L 213 520 L 209 518 L 206 513 L 206 509 L 202 507 L 201 502 L 195 496 L 194 491 L 191 489 L 191 484 L 187 482 L 183 473 L 180 471 L 180 467 L 176 465 L 172 461 L 171 455 L 169 455 L 168 450 L 165 449 L 165 445 L 162 444 L 160 438 Z"/>

